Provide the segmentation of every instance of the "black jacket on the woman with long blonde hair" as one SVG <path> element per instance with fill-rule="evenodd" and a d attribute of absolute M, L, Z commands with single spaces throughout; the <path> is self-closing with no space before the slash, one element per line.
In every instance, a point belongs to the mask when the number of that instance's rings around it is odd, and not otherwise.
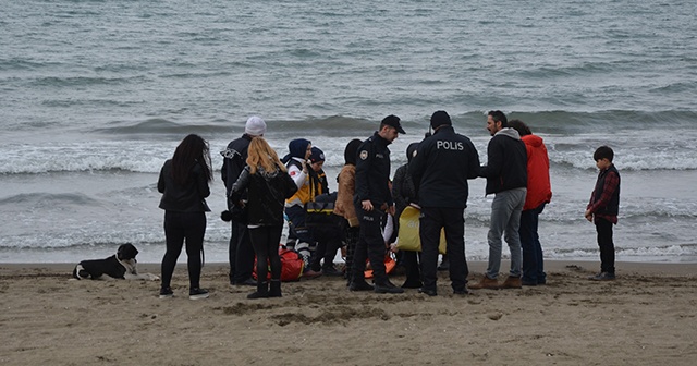
<path fill-rule="evenodd" d="M 250 227 L 283 225 L 283 203 L 297 191 L 295 182 L 289 174 L 280 169 L 267 172 L 261 167 L 252 174 L 249 167 L 245 167 L 240 179 L 232 185 L 231 200 L 240 202 L 245 190 L 247 191 L 247 222 Z"/>

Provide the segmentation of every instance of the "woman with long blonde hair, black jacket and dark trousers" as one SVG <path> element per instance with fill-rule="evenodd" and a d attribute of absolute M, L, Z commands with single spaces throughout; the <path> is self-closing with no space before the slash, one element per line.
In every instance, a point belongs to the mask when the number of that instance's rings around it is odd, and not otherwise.
<path fill-rule="evenodd" d="M 297 192 L 279 156 L 262 137 L 254 137 L 247 150 L 247 166 L 232 185 L 234 205 L 248 207 L 248 229 L 257 255 L 257 291 L 247 298 L 281 297 L 279 244 L 283 230 L 285 199 Z M 247 188 L 247 202 L 240 200 Z M 267 280 L 271 267 L 271 284 Z"/>

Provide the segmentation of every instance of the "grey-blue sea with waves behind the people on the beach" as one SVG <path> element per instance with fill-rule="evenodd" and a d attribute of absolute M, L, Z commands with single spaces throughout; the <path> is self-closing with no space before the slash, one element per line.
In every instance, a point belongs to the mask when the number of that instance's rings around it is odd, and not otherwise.
<path fill-rule="evenodd" d="M 321 148 L 330 188 L 388 114 L 392 172 L 445 110 L 486 162 L 486 113 L 549 149 L 545 257 L 599 261 L 584 210 L 608 145 L 622 174 L 617 260 L 697 263 L 697 2 L 682 0 L 0 0 L 0 263 L 164 253 L 156 182 L 210 144 L 207 263 L 228 261 L 219 151 L 250 115 L 280 155 Z M 453 170 L 457 167 L 453 166 Z M 492 196 L 470 181 L 466 256 Z M 508 254 L 504 248 L 504 254 Z M 183 254 L 180 261 L 185 261 Z"/>

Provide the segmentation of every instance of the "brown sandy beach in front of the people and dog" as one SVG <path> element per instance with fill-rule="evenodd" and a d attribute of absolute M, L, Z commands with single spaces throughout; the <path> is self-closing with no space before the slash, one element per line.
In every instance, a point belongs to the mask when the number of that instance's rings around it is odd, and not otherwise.
<path fill-rule="evenodd" d="M 246 298 L 224 264 L 207 264 L 207 300 L 159 282 L 74 281 L 69 264 L 0 264 L 2 365 L 695 365 L 694 264 L 547 261 L 548 284 L 455 296 L 353 293 L 337 278 Z M 502 268 L 508 268 L 503 264 Z M 159 274 L 158 264 L 140 272 Z M 470 280 L 484 263 L 470 264 Z M 403 277 L 392 281 L 401 284 Z"/>

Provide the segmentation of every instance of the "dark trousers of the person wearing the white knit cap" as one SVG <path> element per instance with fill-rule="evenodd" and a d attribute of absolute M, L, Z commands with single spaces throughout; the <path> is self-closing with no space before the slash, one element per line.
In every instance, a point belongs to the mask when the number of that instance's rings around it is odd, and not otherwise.
<path fill-rule="evenodd" d="M 232 221 L 228 256 L 230 259 L 230 283 L 242 283 L 252 278 L 254 249 L 246 223 Z"/>

